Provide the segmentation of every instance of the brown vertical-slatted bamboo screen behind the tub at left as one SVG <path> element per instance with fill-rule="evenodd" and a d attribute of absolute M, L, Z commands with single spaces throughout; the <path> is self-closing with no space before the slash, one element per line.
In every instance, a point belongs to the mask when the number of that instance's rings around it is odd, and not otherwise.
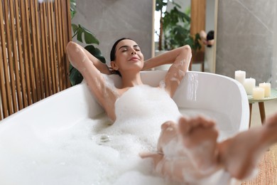
<path fill-rule="evenodd" d="M 0 120 L 70 87 L 70 2 L 0 0 Z"/>

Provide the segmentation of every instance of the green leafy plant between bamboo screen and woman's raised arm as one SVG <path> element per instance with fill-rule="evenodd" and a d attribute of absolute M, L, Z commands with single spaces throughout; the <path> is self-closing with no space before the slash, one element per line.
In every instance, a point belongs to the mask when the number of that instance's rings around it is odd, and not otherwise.
<path fill-rule="evenodd" d="M 71 13 L 71 20 L 74 18 L 76 14 L 76 0 L 70 0 L 70 13 Z M 84 26 L 81 26 L 80 24 L 76 25 L 75 23 L 71 23 L 72 27 L 72 32 L 74 38 L 75 36 L 77 37 L 77 41 L 80 41 L 81 43 L 87 43 L 89 45 L 85 46 L 85 49 L 89 51 L 89 53 L 92 53 L 93 56 L 98 58 L 102 63 L 106 63 L 106 60 L 104 56 L 102 56 L 101 51 L 99 48 L 96 48 L 94 45 L 99 45 L 99 41 L 97 38 L 94 36 L 92 32 L 87 30 Z M 83 41 L 82 38 L 85 38 L 85 41 Z M 71 85 L 77 85 L 82 82 L 83 77 L 81 73 L 73 68 L 73 66 L 70 64 L 69 68 L 70 72 L 70 83 Z"/>

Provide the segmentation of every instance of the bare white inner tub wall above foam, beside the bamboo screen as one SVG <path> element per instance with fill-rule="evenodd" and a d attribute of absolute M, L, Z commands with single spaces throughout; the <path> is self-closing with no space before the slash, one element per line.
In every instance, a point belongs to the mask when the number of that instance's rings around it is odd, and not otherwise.
<path fill-rule="evenodd" d="M 84 119 L 103 112 L 94 100 L 87 85 L 75 85 L 60 93 L 45 98 L 0 122 L 2 127 L 11 124 L 31 126 L 33 129 L 70 127 Z"/>

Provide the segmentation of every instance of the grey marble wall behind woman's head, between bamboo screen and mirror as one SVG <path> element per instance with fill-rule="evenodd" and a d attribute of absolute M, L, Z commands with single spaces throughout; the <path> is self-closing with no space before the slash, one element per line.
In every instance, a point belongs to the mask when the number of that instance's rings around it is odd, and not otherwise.
<path fill-rule="evenodd" d="M 112 45 L 122 37 L 139 43 L 147 59 L 152 53 L 152 11 L 152 0 L 82 0 L 77 1 L 72 23 L 80 23 L 94 33 L 108 63 Z"/>

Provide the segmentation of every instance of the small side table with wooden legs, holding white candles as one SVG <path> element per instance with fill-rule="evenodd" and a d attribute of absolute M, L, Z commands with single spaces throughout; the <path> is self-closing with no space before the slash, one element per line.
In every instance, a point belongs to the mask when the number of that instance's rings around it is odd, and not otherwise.
<path fill-rule="evenodd" d="M 270 97 L 264 97 L 264 99 L 261 99 L 261 100 L 254 100 L 252 95 L 248 95 L 249 110 L 250 110 L 249 128 L 251 126 L 252 104 L 255 103 L 255 102 L 259 103 L 261 124 L 263 124 L 264 120 L 266 119 L 266 111 L 264 110 L 264 102 L 269 101 L 269 100 L 276 100 L 276 99 L 277 99 L 277 90 L 276 89 L 271 89 L 271 96 Z"/>

